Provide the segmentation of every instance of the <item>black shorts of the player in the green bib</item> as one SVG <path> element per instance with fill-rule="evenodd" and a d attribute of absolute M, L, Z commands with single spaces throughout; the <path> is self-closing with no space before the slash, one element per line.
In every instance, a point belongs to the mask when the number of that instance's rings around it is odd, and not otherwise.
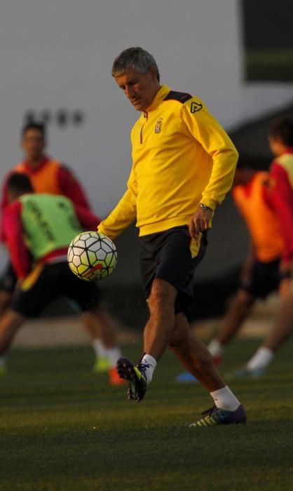
<path fill-rule="evenodd" d="M 69 269 L 67 262 L 38 264 L 15 290 L 11 309 L 27 317 L 37 317 L 46 305 L 65 295 L 81 311 L 99 305 L 99 290 L 95 283 L 82 281 Z"/>

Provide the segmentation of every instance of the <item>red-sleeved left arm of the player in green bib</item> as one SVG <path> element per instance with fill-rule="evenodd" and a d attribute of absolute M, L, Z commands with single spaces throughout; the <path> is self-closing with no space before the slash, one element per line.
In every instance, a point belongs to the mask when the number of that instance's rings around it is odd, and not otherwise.
<path fill-rule="evenodd" d="M 18 279 L 22 280 L 31 269 L 29 250 L 23 239 L 20 201 L 7 206 L 3 214 L 4 240 L 11 256 L 11 263 Z"/>

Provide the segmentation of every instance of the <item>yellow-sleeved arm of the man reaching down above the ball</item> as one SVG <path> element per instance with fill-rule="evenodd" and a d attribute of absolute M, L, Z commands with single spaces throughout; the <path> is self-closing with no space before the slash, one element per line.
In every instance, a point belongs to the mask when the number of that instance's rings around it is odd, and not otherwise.
<path fill-rule="evenodd" d="M 137 186 L 135 173 L 132 169 L 127 191 L 123 194 L 116 208 L 100 223 L 98 230 L 113 240 L 127 229 L 136 217 L 136 196 Z"/>

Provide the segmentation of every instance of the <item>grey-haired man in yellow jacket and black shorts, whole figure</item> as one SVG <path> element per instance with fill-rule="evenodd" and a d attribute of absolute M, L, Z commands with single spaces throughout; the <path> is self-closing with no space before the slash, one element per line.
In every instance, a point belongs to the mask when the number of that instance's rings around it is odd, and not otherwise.
<path fill-rule="evenodd" d="M 115 238 L 137 221 L 150 313 L 141 360 L 135 365 L 120 358 L 118 374 L 128 380 L 128 398 L 141 401 L 169 346 L 214 399 L 191 426 L 245 422 L 243 405 L 189 327 L 193 273 L 205 254 L 214 210 L 231 188 L 238 152 L 198 97 L 161 85 L 147 51 L 123 51 L 112 75 L 142 114 L 131 132 L 127 190 L 98 229 Z"/>

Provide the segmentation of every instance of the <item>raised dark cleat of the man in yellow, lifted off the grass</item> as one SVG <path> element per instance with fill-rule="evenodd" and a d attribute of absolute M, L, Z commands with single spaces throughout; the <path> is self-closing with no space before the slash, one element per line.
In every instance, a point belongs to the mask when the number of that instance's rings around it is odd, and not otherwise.
<path fill-rule="evenodd" d="M 118 375 L 128 382 L 128 399 L 139 403 L 147 391 L 147 376 L 142 363 L 135 365 L 128 358 L 119 358 L 116 364 Z"/>

